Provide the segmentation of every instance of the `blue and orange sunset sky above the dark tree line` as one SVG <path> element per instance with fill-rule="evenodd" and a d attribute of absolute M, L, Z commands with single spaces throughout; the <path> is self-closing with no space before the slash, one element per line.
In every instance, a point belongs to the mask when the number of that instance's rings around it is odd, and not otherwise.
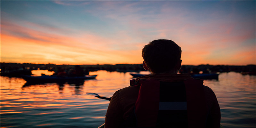
<path fill-rule="evenodd" d="M 1 1 L 1 62 L 140 64 L 171 39 L 183 65 L 256 64 L 255 1 Z"/>

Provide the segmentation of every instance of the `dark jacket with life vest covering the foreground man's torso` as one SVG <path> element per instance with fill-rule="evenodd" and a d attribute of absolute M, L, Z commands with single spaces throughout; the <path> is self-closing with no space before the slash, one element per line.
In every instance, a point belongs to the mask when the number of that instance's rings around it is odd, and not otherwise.
<path fill-rule="evenodd" d="M 105 128 L 123 127 L 135 109 L 137 126 L 162 127 L 166 122 L 174 125 L 176 122 L 177 125 L 184 124 L 183 126 L 189 128 L 220 127 L 220 107 L 217 98 L 209 87 L 202 85 L 202 80 L 195 80 L 188 74 L 164 73 L 138 77 L 131 84 L 132 86 L 120 89 L 114 93 L 108 106 Z M 182 89 L 182 86 L 184 89 Z M 184 106 L 184 103 L 187 104 L 188 108 L 185 107 L 182 111 L 165 110 L 166 104 L 163 105 L 161 102 L 164 101 L 163 103 L 166 103 L 166 99 L 171 103 L 173 103 L 172 101 L 175 101 L 174 103 L 182 101 L 179 102 L 181 103 L 181 108 Z M 147 104 L 147 102 L 145 103 L 144 101 L 146 100 L 151 105 Z M 164 106 L 164 109 L 161 106 Z M 179 115 L 184 116 L 178 118 L 177 116 Z M 183 122 L 179 122 L 180 120 Z"/>

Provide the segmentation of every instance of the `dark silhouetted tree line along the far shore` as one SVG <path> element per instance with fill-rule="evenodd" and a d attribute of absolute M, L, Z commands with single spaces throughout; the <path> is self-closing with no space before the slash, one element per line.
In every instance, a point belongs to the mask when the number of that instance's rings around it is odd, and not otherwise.
<path fill-rule="evenodd" d="M 5 70 L 49 70 L 54 71 L 57 68 L 74 68 L 76 65 L 55 65 L 55 64 L 30 64 L 30 63 L 1 63 L 1 72 Z M 79 65 L 86 71 L 97 71 L 97 70 L 107 70 L 107 71 L 118 71 L 118 72 L 140 72 L 145 71 L 142 64 L 103 64 L 103 65 Z M 231 66 L 231 65 L 182 65 L 181 73 L 216 73 L 216 72 L 254 72 L 256 71 L 256 65 L 246 65 L 246 66 Z"/>

